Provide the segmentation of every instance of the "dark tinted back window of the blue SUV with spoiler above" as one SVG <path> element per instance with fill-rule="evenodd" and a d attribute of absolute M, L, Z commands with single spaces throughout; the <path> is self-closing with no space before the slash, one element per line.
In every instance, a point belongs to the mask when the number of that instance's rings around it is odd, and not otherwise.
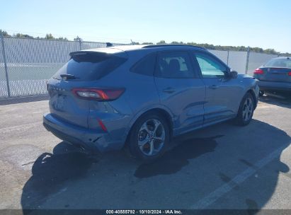
<path fill-rule="evenodd" d="M 73 54 L 69 62 L 64 64 L 54 79 L 62 79 L 62 74 L 72 75 L 68 81 L 94 81 L 101 79 L 126 61 L 125 58 L 110 54 L 79 52 Z"/>

